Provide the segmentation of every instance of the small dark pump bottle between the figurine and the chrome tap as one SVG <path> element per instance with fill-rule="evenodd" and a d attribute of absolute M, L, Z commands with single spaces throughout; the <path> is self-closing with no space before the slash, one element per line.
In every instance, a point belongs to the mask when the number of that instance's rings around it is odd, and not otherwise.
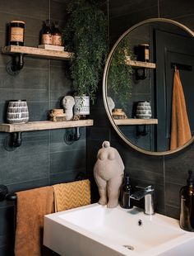
<path fill-rule="evenodd" d="M 122 208 L 130 209 L 133 207 L 132 199 L 130 198 L 132 194 L 132 186 L 130 184 L 130 178 L 128 175 L 125 175 L 124 181 L 121 187 L 121 201 L 120 205 Z"/>

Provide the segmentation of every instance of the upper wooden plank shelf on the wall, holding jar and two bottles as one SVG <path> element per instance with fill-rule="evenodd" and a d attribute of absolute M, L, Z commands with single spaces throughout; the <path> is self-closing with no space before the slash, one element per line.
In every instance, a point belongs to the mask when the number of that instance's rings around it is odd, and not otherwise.
<path fill-rule="evenodd" d="M 28 46 L 9 45 L 2 47 L 2 53 L 7 55 L 30 55 L 45 59 L 71 59 L 73 54 L 62 50 L 46 50 Z"/>

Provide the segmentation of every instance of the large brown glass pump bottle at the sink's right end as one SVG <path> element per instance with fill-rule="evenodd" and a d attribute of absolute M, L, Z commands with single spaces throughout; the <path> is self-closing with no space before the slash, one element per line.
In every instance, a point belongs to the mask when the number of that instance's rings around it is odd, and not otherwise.
<path fill-rule="evenodd" d="M 191 170 L 188 171 L 187 186 L 180 190 L 180 200 L 180 227 L 182 230 L 194 232 L 194 187 Z"/>

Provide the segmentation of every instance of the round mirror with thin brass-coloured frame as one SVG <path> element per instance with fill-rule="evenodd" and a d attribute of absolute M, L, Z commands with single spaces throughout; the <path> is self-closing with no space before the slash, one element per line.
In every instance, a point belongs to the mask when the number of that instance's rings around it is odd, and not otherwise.
<path fill-rule="evenodd" d="M 118 135 L 146 154 L 172 154 L 194 132 L 194 33 L 164 18 L 142 21 L 113 46 L 103 96 Z"/>

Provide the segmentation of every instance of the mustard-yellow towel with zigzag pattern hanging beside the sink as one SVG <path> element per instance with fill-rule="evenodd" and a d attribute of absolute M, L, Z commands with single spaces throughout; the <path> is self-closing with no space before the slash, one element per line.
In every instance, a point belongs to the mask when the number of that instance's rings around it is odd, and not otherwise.
<path fill-rule="evenodd" d="M 90 204 L 90 181 L 88 179 L 53 186 L 55 212 Z"/>

